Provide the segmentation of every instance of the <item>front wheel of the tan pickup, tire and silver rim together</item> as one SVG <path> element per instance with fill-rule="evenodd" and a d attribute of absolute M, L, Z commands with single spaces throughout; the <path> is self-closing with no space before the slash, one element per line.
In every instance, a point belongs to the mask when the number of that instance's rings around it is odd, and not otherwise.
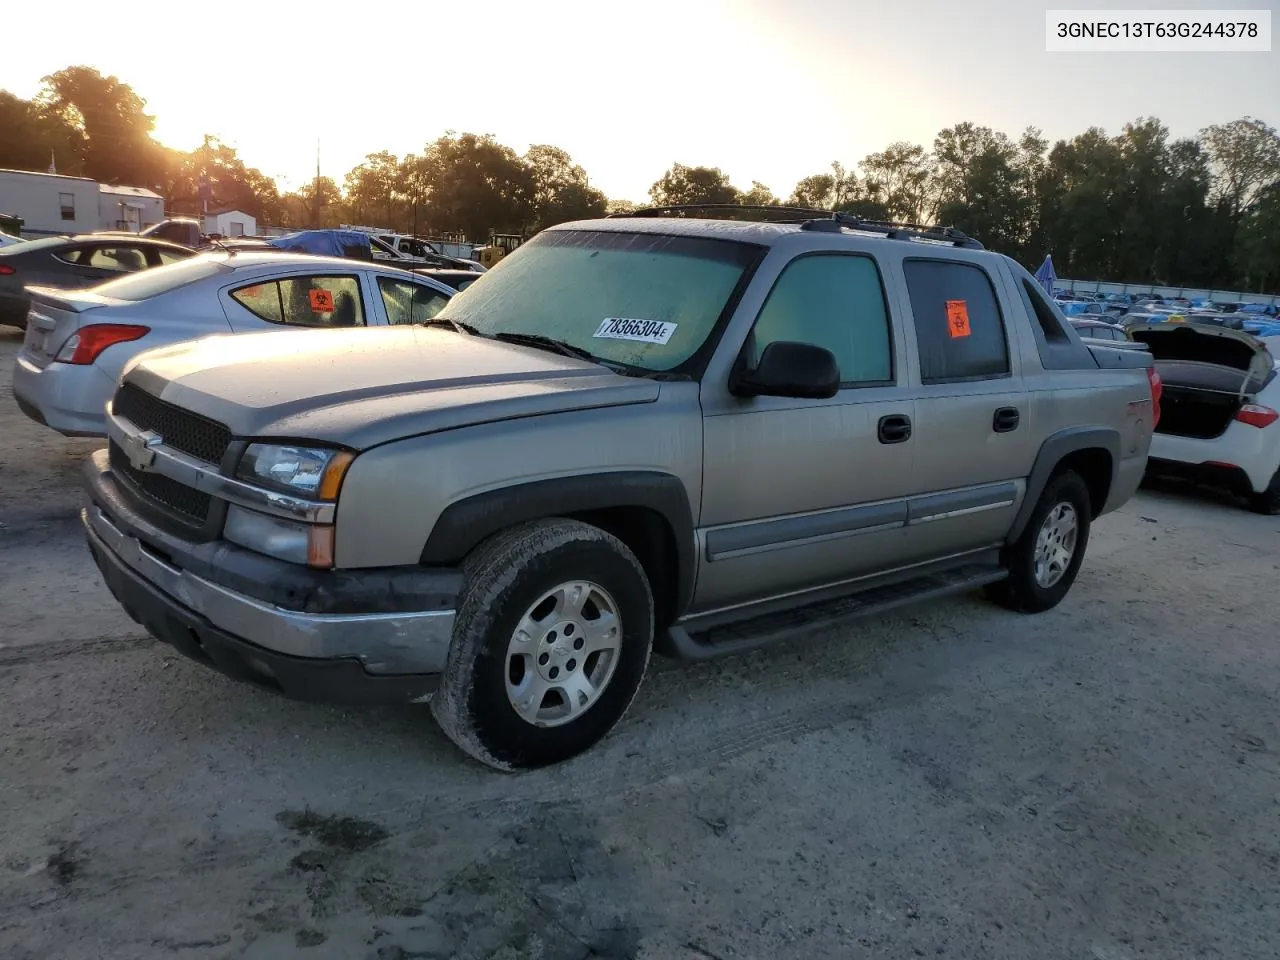
<path fill-rule="evenodd" d="M 588 524 L 541 520 L 481 544 L 463 576 L 431 700 L 444 733 L 499 769 L 558 763 L 604 737 L 653 645 L 653 596 L 631 550 Z"/>

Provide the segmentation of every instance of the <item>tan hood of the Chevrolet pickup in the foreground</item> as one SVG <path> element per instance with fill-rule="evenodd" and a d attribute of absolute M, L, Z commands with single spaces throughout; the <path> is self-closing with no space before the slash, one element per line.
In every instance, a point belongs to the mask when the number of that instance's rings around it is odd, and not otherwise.
<path fill-rule="evenodd" d="M 141 353 L 124 380 L 236 436 L 366 449 L 458 426 L 646 403 L 654 380 L 440 328 L 220 335 Z"/>

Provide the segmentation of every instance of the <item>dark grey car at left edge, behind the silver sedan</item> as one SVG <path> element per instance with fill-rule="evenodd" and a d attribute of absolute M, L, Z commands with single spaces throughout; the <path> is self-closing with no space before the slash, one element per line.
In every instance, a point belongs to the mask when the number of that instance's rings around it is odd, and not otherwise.
<path fill-rule="evenodd" d="M 45 237 L 0 248 L 0 324 L 26 329 L 28 288 L 78 289 L 177 264 L 196 251 L 145 237 Z"/>

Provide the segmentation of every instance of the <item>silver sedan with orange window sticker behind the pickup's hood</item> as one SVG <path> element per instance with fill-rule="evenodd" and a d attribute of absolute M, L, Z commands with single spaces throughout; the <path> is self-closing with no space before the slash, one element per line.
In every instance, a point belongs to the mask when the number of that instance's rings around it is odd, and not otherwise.
<path fill-rule="evenodd" d="M 13 393 L 32 420 L 101 436 L 138 353 L 215 334 L 430 320 L 454 291 L 404 270 L 305 253 L 216 252 L 84 291 L 31 291 Z"/>

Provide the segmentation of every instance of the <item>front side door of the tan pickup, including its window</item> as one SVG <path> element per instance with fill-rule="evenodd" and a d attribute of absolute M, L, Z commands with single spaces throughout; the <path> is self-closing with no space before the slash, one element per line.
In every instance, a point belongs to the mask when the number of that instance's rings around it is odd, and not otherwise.
<path fill-rule="evenodd" d="M 829 349 L 841 389 L 826 399 L 736 398 L 703 383 L 701 556 L 691 612 L 850 580 L 901 553 L 915 408 L 876 260 L 809 253 L 778 274 L 742 347 Z"/>

